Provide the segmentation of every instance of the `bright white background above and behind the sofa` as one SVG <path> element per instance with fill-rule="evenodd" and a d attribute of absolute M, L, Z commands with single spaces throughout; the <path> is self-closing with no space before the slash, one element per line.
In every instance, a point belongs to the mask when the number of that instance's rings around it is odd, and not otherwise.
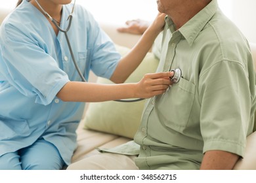
<path fill-rule="evenodd" d="M 4 1 L 5 3 L 3 3 Z M 76 0 L 90 10 L 96 20 L 124 24 L 126 20 L 153 20 L 156 0 Z M 14 8 L 17 0 L 1 0 L 1 7 Z M 241 29 L 250 42 L 256 42 L 256 0 L 218 0 L 223 12 Z"/>

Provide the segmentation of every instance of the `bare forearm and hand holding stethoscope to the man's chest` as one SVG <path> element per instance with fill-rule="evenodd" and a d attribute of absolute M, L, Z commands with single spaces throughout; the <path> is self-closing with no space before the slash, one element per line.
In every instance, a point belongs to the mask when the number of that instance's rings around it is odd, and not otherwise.
<path fill-rule="evenodd" d="M 62 101 L 100 102 L 128 98 L 150 98 L 164 93 L 173 72 L 146 74 L 140 82 L 127 84 L 95 84 L 70 81 L 57 93 Z"/>

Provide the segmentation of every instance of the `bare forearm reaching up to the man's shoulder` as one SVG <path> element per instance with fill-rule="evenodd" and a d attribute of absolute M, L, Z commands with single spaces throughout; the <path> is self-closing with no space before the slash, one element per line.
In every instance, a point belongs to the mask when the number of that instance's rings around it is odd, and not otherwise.
<path fill-rule="evenodd" d="M 142 59 L 146 56 L 154 40 L 163 30 L 165 25 L 165 14 L 158 14 L 154 22 L 146 29 L 140 41 L 133 47 L 131 52 L 122 58 L 110 78 L 112 82 L 124 82 L 133 71 L 140 65 Z"/>

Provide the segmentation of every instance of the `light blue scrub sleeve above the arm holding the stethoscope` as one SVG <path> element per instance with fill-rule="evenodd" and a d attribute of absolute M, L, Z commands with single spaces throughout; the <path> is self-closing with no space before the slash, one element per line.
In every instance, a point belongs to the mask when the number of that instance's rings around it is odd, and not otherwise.
<path fill-rule="evenodd" d="M 1 73 L 20 93 L 48 105 L 69 79 L 47 49 L 28 34 L 11 24 L 1 29 Z"/>

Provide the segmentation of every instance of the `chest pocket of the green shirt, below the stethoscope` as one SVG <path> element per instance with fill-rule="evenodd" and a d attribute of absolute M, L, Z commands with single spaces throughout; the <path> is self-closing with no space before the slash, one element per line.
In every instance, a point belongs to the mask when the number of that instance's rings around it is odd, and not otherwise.
<path fill-rule="evenodd" d="M 194 99 L 195 85 L 181 78 L 178 84 L 173 84 L 169 91 L 156 98 L 161 123 L 182 132 L 188 124 Z"/>

